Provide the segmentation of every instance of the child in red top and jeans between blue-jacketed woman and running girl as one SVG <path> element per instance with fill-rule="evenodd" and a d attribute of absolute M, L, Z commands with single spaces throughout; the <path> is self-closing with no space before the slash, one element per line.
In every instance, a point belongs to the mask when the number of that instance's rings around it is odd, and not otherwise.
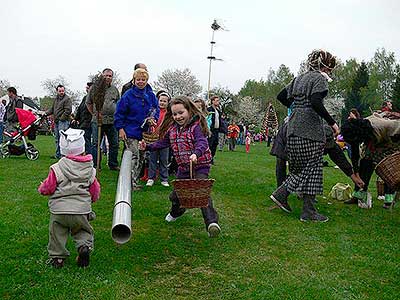
<path fill-rule="evenodd" d="M 158 128 L 164 120 L 165 113 L 167 112 L 167 106 L 171 96 L 165 91 L 159 91 L 157 93 L 158 106 L 160 107 L 160 117 L 157 121 L 157 127 L 155 129 L 158 132 Z M 148 180 L 146 186 L 153 186 L 154 180 L 156 179 L 157 167 L 160 174 L 160 180 L 162 186 L 169 186 L 168 183 L 168 158 L 169 158 L 169 148 L 163 148 L 160 150 L 152 151 L 150 153 L 149 159 L 149 172 Z"/>

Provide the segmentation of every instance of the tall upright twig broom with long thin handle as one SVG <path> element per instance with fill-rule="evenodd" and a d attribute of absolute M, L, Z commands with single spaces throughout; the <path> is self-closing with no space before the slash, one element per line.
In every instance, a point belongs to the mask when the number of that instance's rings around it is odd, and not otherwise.
<path fill-rule="evenodd" d="M 94 80 L 92 90 L 93 93 L 93 103 L 96 106 L 97 112 L 97 161 L 96 169 L 97 174 L 100 171 L 100 144 L 101 144 L 101 126 L 103 125 L 103 118 L 100 117 L 100 113 L 103 110 L 104 97 L 106 95 L 106 90 L 108 85 L 102 74 L 98 75 Z"/>

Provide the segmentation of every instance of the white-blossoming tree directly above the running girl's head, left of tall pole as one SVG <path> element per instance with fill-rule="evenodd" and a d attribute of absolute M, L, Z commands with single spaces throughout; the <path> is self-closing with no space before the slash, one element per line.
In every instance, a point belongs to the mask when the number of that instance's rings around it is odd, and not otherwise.
<path fill-rule="evenodd" d="M 153 86 L 156 90 L 166 90 L 172 97 L 179 95 L 197 97 L 202 91 L 199 80 L 188 68 L 168 69 L 162 72 Z"/>

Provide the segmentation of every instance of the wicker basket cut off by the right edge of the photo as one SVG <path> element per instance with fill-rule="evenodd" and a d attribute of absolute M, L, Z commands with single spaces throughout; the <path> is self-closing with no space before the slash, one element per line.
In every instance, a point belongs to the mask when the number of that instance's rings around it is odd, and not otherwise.
<path fill-rule="evenodd" d="M 375 172 L 392 189 L 400 190 L 400 152 L 382 159 Z"/>

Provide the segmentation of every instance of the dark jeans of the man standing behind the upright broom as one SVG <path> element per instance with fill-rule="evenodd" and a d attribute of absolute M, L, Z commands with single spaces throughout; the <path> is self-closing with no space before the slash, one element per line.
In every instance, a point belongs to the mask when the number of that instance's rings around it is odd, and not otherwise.
<path fill-rule="evenodd" d="M 93 163 L 96 166 L 97 163 L 97 122 L 92 122 L 92 155 L 93 155 Z M 108 166 L 110 168 L 118 167 L 118 132 L 112 124 L 103 124 L 101 126 L 101 134 L 107 136 L 108 143 L 110 145 L 110 151 L 108 153 Z M 100 140 L 101 142 L 101 140 Z M 101 157 L 100 157 L 101 160 Z"/>

